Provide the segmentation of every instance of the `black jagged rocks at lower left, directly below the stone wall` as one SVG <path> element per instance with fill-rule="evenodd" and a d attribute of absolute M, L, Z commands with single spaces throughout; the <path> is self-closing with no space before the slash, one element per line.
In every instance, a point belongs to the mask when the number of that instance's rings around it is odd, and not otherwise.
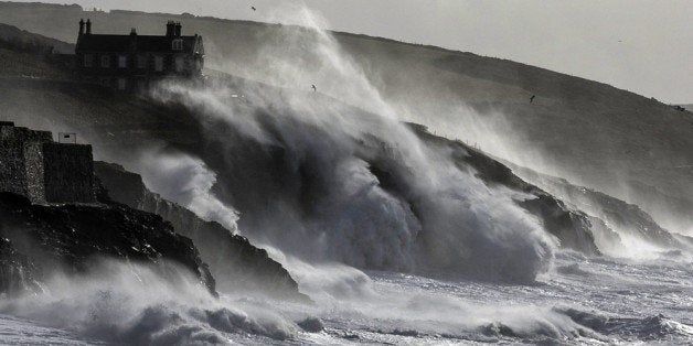
<path fill-rule="evenodd" d="M 32 205 L 0 193 L 0 289 L 32 289 L 55 270 L 88 272 L 98 258 L 152 264 L 166 277 L 162 260 L 174 261 L 215 294 L 215 282 L 190 238 L 174 233 L 160 216 L 120 204 Z"/>

